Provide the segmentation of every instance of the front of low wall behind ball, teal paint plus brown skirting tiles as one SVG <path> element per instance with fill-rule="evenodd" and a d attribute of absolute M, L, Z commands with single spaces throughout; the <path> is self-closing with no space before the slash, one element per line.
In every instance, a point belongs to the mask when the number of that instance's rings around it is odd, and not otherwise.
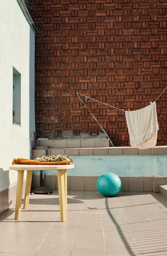
<path fill-rule="evenodd" d="M 167 184 L 167 155 L 164 153 L 70 157 L 75 167 L 67 171 L 68 190 L 97 190 L 97 179 L 106 172 L 113 172 L 120 177 L 122 191 L 158 192 L 159 185 Z M 45 185 L 57 189 L 57 171 L 47 170 L 44 174 Z M 32 187 L 39 185 L 39 171 L 33 171 Z"/>

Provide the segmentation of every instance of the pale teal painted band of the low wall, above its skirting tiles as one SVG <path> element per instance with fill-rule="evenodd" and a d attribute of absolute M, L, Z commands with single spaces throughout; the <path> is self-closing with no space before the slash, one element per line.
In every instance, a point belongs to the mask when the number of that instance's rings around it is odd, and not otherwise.
<path fill-rule="evenodd" d="M 70 156 L 75 165 L 68 176 L 100 176 L 113 172 L 120 177 L 167 177 L 167 155 L 89 155 Z M 44 171 L 55 175 L 57 171 Z M 39 175 L 39 171 L 33 171 Z"/>

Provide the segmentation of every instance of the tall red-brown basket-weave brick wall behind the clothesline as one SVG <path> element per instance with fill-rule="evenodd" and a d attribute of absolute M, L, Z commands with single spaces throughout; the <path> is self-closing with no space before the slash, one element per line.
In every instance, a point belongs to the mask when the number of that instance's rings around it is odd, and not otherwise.
<path fill-rule="evenodd" d="M 39 42 L 81 94 L 136 110 L 167 86 L 165 0 L 30 0 Z M 37 136 L 102 132 L 36 45 Z M 129 146 L 123 111 L 86 100 L 115 146 Z M 157 145 L 167 145 L 167 90 L 156 101 Z"/>

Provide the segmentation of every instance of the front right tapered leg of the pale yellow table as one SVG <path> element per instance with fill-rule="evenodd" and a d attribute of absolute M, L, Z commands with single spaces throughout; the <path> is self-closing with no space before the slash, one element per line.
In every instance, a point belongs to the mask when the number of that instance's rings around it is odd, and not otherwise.
<path fill-rule="evenodd" d="M 60 205 L 60 221 L 66 221 L 64 172 L 65 172 L 65 169 L 57 170 L 58 195 L 59 195 L 59 205 Z"/>

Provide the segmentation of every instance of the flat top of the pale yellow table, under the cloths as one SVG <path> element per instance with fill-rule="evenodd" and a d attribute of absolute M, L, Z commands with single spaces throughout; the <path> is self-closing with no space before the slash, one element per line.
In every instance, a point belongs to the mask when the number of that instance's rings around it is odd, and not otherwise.
<path fill-rule="evenodd" d="M 74 164 L 61 164 L 61 165 L 41 165 L 41 164 L 13 164 L 9 167 L 10 170 L 61 170 L 72 169 Z"/>

